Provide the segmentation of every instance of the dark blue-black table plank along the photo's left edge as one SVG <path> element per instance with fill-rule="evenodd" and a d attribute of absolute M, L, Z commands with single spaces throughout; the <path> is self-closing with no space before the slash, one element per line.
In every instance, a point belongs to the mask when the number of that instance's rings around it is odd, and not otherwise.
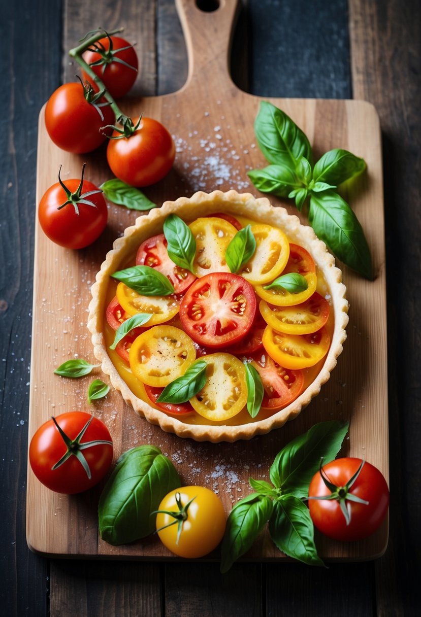
<path fill-rule="evenodd" d="M 48 560 L 25 541 L 38 113 L 60 75 L 60 2 L 2 5 L 0 70 L 1 613 L 46 615 Z M 44 41 L 49 41 L 44 44 Z"/>

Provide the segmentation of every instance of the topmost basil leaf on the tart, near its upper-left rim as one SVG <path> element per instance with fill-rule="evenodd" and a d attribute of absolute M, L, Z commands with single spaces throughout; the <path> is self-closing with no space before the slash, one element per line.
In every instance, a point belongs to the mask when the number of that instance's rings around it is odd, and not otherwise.
<path fill-rule="evenodd" d="M 175 214 L 170 214 L 164 222 L 164 236 L 167 240 L 167 253 L 180 268 L 194 274 L 193 261 L 196 255 L 196 240 L 190 227 Z"/>

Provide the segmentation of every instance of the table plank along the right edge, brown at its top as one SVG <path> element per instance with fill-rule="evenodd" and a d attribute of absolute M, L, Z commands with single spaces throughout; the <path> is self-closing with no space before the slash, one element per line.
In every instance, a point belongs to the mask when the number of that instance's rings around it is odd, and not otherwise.
<path fill-rule="evenodd" d="M 415 611 L 411 583 L 421 554 L 419 101 L 421 6 L 350 0 L 354 97 L 372 102 L 383 130 L 390 395 L 391 536 L 377 562 L 377 611 Z M 399 257 L 396 251 L 399 251 Z M 401 301 L 396 302 L 396 298 Z"/>

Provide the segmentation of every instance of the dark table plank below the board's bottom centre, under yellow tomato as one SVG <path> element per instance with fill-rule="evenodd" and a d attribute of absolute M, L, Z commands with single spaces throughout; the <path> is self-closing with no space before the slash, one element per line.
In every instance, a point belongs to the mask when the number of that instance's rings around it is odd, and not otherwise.
<path fill-rule="evenodd" d="M 165 565 L 165 617 L 262 615 L 262 566 L 236 564 L 220 574 L 216 563 Z"/>

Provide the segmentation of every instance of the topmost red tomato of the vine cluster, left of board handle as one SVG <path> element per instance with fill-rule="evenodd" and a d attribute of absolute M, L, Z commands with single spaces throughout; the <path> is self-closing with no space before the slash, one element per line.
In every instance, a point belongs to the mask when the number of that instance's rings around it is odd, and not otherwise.
<path fill-rule="evenodd" d="M 99 39 L 83 53 L 83 59 L 114 99 L 127 94 L 136 81 L 138 57 L 133 46 L 120 36 L 105 36 Z M 98 88 L 90 75 L 85 71 L 82 71 L 82 75 L 84 80 Z"/>

